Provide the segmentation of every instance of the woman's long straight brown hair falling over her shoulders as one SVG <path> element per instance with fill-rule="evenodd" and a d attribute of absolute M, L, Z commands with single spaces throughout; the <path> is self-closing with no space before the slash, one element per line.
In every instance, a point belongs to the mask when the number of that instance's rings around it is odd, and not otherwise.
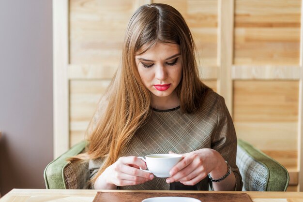
<path fill-rule="evenodd" d="M 203 84 L 198 76 L 195 44 L 185 20 L 166 4 L 139 7 L 126 30 L 121 65 L 99 103 L 95 115 L 98 120 L 89 125 L 87 152 L 74 158 L 104 159 L 92 183 L 118 159 L 123 146 L 151 114 L 150 91 L 141 81 L 135 55 L 144 53 L 157 42 L 180 45 L 182 80 L 176 88 L 180 109 L 183 113 L 192 113 L 199 108 Z M 97 115 L 100 110 L 101 115 Z"/>

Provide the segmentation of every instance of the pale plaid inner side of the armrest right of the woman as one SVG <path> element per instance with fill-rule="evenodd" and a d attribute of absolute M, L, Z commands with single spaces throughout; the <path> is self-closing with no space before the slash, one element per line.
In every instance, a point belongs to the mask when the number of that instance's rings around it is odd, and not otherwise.
<path fill-rule="evenodd" d="M 244 183 L 242 191 L 266 191 L 268 170 L 238 146 L 237 165 Z"/>

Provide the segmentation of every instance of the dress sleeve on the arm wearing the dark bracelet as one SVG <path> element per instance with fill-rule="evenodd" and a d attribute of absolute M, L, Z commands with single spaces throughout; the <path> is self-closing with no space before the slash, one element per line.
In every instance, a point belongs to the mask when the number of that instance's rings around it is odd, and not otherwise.
<path fill-rule="evenodd" d="M 237 136 L 229 115 L 224 98 L 219 97 L 217 102 L 217 126 L 212 133 L 212 149 L 218 151 L 221 156 L 229 163 L 233 174 L 236 177 L 235 191 L 242 190 L 242 177 L 236 165 L 237 156 Z"/>

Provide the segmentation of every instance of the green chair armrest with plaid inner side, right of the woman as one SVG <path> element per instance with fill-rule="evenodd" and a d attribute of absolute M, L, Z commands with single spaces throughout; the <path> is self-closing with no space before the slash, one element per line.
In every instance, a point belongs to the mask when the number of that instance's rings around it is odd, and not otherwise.
<path fill-rule="evenodd" d="M 237 166 L 243 191 L 286 191 L 288 171 L 277 161 L 243 140 L 238 140 Z"/>

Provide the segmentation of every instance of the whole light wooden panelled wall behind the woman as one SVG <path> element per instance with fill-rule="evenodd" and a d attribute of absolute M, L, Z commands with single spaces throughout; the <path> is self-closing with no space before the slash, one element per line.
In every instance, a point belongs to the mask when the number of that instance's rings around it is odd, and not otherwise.
<path fill-rule="evenodd" d="M 225 98 L 238 138 L 288 169 L 288 190 L 302 190 L 301 0 L 53 2 L 55 157 L 84 139 L 134 11 L 145 3 L 167 3 L 188 23 L 201 79 Z"/>

